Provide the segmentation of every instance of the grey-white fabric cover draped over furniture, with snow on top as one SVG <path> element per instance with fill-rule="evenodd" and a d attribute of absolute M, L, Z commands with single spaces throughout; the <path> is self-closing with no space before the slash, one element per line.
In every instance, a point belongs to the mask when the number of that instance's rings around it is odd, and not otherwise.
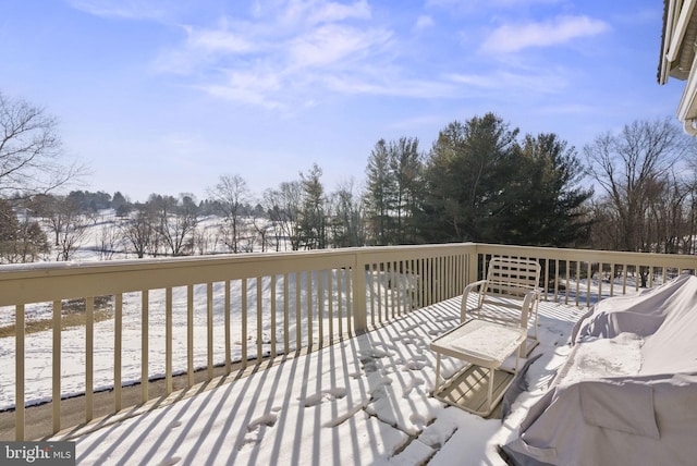
<path fill-rule="evenodd" d="M 595 305 L 503 446 L 518 465 L 697 464 L 697 278 Z"/>

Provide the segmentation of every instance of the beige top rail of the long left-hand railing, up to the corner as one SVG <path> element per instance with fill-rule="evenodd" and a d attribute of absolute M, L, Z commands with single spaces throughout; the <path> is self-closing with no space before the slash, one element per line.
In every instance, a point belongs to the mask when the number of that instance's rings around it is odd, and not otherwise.
<path fill-rule="evenodd" d="M 352 247 L 0 266 L 0 306 L 81 298 L 169 286 L 310 270 L 362 267 L 378 261 L 463 253 L 468 244 Z"/>

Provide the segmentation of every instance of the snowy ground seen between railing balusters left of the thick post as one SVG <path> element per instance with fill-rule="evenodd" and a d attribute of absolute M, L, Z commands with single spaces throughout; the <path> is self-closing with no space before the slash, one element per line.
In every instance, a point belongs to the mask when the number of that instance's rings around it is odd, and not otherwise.
<path fill-rule="evenodd" d="M 335 273 L 337 272 L 332 272 Z M 335 278 L 335 277 L 334 277 Z M 317 281 L 316 274 L 313 277 Z M 289 295 L 283 296 L 290 303 L 295 303 L 296 287 L 294 277 L 293 283 L 289 286 Z M 301 280 L 307 280 L 306 275 Z M 345 278 L 342 278 L 345 281 Z M 325 280 L 327 283 L 327 280 Z M 277 296 L 281 299 L 283 295 L 282 281 L 277 282 Z M 240 281 L 231 282 L 231 295 L 240 296 Z M 277 347 L 283 347 L 282 324 L 283 317 L 277 312 L 277 329 L 270 328 L 270 280 L 265 278 L 261 283 L 261 293 L 266 302 L 265 315 L 262 316 L 262 354 L 268 355 L 271 351 L 270 335 L 276 333 Z M 304 286 L 304 285 L 302 285 Z M 248 284 L 248 322 L 247 334 L 244 336 L 247 345 L 247 358 L 257 357 L 257 320 L 253 317 L 256 314 L 257 287 L 254 281 Z M 345 290 L 345 285 L 344 285 Z M 173 302 L 173 354 L 172 363 L 175 373 L 186 371 L 187 364 L 187 312 L 186 312 L 186 287 L 176 287 L 172 291 Z M 339 296 L 334 290 L 334 302 Z M 166 324 L 164 305 L 166 296 L 163 290 L 156 290 L 149 293 L 148 312 L 148 368 L 150 378 L 163 377 L 166 373 Z M 207 365 L 208 351 L 208 316 L 206 312 L 207 294 L 206 285 L 194 286 L 194 366 L 205 368 Z M 343 304 L 344 309 L 346 304 Z M 279 304 L 279 308 L 282 306 Z M 301 319 L 297 320 L 295 312 L 289 315 L 289 346 L 291 350 L 297 347 L 295 341 L 296 326 L 301 327 L 302 340 L 299 346 L 307 344 L 307 303 L 305 296 L 301 297 Z M 50 304 L 27 307 L 27 320 L 48 319 L 51 316 Z M 242 304 L 237 301 L 231 303 L 231 359 L 239 361 L 242 359 Z M 13 323 L 14 310 L 7 309 L 0 318 L 0 326 Z M 323 328 L 329 328 L 329 319 L 325 318 Z M 334 329 L 339 327 L 339 318 L 334 316 Z M 347 328 L 347 320 L 344 315 L 342 328 Z M 224 355 L 224 284 L 213 284 L 213 364 L 223 364 Z M 317 322 L 315 322 L 315 333 L 317 333 Z M 123 328 L 122 328 L 122 382 L 131 384 L 140 380 L 142 368 L 142 315 L 140 315 L 140 293 L 129 293 L 123 295 Z M 96 390 L 109 389 L 113 387 L 113 354 L 114 354 L 114 321 L 113 318 L 95 323 L 95 380 Z M 318 338 L 316 334 L 315 339 Z M 291 340 L 292 339 L 292 340 Z M 52 360 L 47 355 L 52 354 L 52 334 L 50 330 L 29 333 L 25 336 L 25 400 L 26 404 L 33 405 L 51 397 L 51 375 Z M 13 336 L 0 339 L 0 409 L 14 406 L 15 398 L 15 339 Z M 61 333 L 61 393 L 62 396 L 71 396 L 84 393 L 85 390 L 85 329 L 70 328 Z"/>

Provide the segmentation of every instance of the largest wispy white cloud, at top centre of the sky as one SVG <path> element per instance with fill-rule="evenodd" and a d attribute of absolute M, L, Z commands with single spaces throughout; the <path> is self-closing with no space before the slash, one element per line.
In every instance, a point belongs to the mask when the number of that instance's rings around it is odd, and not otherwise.
<path fill-rule="evenodd" d="M 216 97 L 267 108 L 306 106 L 332 83 L 371 79 L 389 66 L 392 32 L 371 21 L 366 1 L 256 3 L 246 19 L 184 26 L 156 70 L 191 75 Z M 377 75 L 377 73 L 376 73 Z M 359 84 L 354 84 L 358 88 Z"/>

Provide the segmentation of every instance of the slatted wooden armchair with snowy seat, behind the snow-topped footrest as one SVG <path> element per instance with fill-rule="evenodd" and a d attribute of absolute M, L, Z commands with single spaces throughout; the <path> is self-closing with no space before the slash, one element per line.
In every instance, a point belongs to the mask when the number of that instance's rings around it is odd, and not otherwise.
<path fill-rule="evenodd" d="M 527 356 L 539 344 L 537 339 L 540 265 L 535 260 L 493 257 L 487 278 L 465 286 L 461 304 L 461 322 L 484 319 L 527 329 L 528 338 L 521 354 Z M 477 293 L 468 304 L 470 293 Z"/>

